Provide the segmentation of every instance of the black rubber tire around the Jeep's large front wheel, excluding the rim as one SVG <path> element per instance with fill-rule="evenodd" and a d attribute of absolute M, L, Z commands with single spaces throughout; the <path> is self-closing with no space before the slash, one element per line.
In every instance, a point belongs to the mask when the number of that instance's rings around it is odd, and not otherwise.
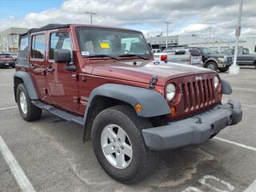
<path fill-rule="evenodd" d="M 102 130 L 110 124 L 121 126 L 130 138 L 133 158 L 130 165 L 120 169 L 110 164 L 103 154 L 101 145 Z M 158 162 L 158 154 L 146 147 L 142 137 L 142 128 L 152 127 L 146 118 L 140 118 L 130 106 L 113 106 L 102 110 L 97 115 L 92 126 L 94 153 L 102 168 L 110 177 L 122 183 L 134 183 L 145 178 L 154 170 Z"/>

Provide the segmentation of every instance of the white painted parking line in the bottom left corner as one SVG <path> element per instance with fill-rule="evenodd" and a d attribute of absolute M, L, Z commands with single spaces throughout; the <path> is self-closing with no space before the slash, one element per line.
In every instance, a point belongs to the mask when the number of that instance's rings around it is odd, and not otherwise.
<path fill-rule="evenodd" d="M 14 158 L 14 155 L 10 152 L 6 142 L 0 136 L 0 151 L 3 158 L 6 160 L 11 172 L 14 174 L 14 178 L 18 182 L 18 186 L 23 192 L 34 192 L 34 187 L 30 183 L 29 179 L 26 178 L 26 174 L 23 172 L 22 168 L 18 165 L 18 162 Z"/>

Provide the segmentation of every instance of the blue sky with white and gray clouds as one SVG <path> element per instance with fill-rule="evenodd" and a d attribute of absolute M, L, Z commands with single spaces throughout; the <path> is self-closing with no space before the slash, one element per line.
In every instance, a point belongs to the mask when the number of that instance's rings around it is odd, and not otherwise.
<path fill-rule="evenodd" d="M 0 30 L 10 26 L 40 27 L 49 23 L 121 26 L 146 37 L 195 34 L 234 38 L 239 0 L 0 0 Z M 244 0 L 242 37 L 256 36 L 256 0 Z"/>

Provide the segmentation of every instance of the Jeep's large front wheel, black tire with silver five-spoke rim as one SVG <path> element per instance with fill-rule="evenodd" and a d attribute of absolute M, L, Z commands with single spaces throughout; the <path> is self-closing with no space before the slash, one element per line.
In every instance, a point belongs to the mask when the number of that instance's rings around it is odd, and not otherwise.
<path fill-rule="evenodd" d="M 158 158 L 142 137 L 142 128 L 149 127 L 150 122 L 130 106 L 110 107 L 97 115 L 92 126 L 94 153 L 107 174 L 123 183 L 146 177 Z"/>

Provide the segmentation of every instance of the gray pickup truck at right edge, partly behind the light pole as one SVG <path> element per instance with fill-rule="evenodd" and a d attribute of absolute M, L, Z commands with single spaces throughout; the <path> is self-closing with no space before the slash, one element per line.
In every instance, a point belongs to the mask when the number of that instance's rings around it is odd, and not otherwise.
<path fill-rule="evenodd" d="M 234 49 L 226 49 L 222 54 L 231 55 L 234 58 Z M 238 49 L 237 64 L 239 66 L 255 66 L 256 68 L 256 54 L 250 54 L 248 48 L 240 47 Z"/>

